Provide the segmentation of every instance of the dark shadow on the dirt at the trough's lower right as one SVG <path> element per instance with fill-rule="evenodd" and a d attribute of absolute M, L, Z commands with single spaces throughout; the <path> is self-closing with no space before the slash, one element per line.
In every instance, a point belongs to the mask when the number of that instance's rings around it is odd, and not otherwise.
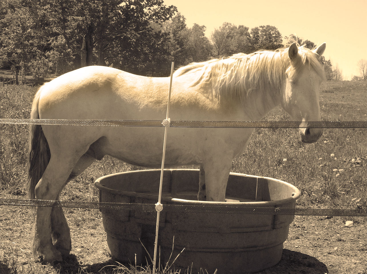
<path fill-rule="evenodd" d="M 329 273 L 327 266 L 315 257 L 301 252 L 283 249 L 281 260 L 275 266 L 258 273 Z"/>

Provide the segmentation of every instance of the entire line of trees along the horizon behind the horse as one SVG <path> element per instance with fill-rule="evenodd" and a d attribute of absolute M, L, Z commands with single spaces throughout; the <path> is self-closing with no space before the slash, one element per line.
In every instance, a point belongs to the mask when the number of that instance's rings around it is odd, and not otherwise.
<path fill-rule="evenodd" d="M 163 0 L 3 0 L 0 67 L 11 69 L 16 79 L 32 75 L 36 81 L 92 64 L 167 76 L 172 61 L 178 67 L 284 46 L 275 26 L 223 23 L 210 38 L 205 30 L 197 24 L 187 27 L 185 17 Z M 321 61 L 327 78 L 336 78 L 330 60 Z"/>

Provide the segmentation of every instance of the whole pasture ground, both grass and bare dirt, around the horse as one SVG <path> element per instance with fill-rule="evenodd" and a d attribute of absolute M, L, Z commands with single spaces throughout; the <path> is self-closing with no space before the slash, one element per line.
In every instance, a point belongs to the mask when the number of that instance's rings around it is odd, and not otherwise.
<path fill-rule="evenodd" d="M 29 118 L 36 91 L 28 86 L 0 86 L 0 118 Z M 323 121 L 367 121 L 367 82 L 328 81 L 321 88 L 320 109 Z M 287 121 L 289 116 L 278 107 L 264 119 Z M 315 144 L 302 144 L 297 129 L 255 129 L 246 151 L 233 161 L 232 171 L 297 186 L 301 190 L 298 207 L 364 209 L 366 140 L 367 129 L 324 129 Z M 0 197 L 26 196 L 27 151 L 28 126 L 0 124 Z M 98 201 L 95 179 L 137 169 L 105 157 L 70 182 L 61 200 Z M 113 270 L 118 264 L 106 255 L 100 212 L 64 212 L 73 249 L 61 268 L 54 269 L 33 260 L 30 208 L 1 206 L 0 273 L 123 272 L 122 267 Z M 345 227 L 345 221 L 353 221 L 354 226 Z M 112 264 L 115 267 L 109 266 Z M 129 271 L 137 272 L 134 268 Z M 295 216 L 280 263 L 263 273 L 367 273 L 366 218 Z"/>

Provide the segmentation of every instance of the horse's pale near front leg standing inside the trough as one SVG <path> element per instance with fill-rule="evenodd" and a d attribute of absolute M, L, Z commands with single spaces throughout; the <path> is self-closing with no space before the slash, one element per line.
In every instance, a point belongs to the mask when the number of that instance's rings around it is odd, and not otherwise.
<path fill-rule="evenodd" d="M 205 178 L 205 184 L 199 183 L 199 195 L 200 191 L 206 191 L 207 201 L 224 202 L 231 168 L 232 158 L 229 156 L 212 157 L 211 160 L 203 163 L 203 173 L 200 171 L 200 174 L 203 175 L 200 176 L 200 179 Z"/>

